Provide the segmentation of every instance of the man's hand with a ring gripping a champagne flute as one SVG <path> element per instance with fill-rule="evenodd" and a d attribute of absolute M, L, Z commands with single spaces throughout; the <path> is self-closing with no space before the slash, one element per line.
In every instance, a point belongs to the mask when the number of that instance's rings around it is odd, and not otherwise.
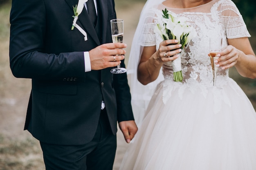
<path fill-rule="evenodd" d="M 107 43 L 89 51 L 92 70 L 115 67 L 124 60 L 126 51 L 124 43 Z"/>

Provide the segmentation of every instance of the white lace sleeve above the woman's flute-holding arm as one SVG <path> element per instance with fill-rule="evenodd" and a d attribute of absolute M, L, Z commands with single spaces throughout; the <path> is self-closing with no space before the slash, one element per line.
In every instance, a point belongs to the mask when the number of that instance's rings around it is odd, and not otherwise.
<path fill-rule="evenodd" d="M 221 6 L 222 20 L 224 22 L 227 38 L 251 37 L 242 15 L 231 0 L 226 0 Z"/>

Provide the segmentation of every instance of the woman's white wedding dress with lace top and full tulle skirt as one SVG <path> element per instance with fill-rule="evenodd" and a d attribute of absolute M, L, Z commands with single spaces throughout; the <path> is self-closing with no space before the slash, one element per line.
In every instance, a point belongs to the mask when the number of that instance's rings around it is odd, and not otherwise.
<path fill-rule="evenodd" d="M 225 47 L 227 38 L 250 36 L 242 16 L 231 0 L 189 9 L 159 4 L 152 10 L 154 22 L 144 24 L 143 46 L 158 48 L 162 40 L 153 30 L 165 8 L 189 18 L 197 36 L 181 54 L 183 82 L 173 81 L 171 62 L 162 67 L 164 80 L 120 170 L 256 170 L 256 112 L 228 70 L 218 71 L 222 90 L 212 88 L 208 57 L 210 37 L 222 36 Z"/>

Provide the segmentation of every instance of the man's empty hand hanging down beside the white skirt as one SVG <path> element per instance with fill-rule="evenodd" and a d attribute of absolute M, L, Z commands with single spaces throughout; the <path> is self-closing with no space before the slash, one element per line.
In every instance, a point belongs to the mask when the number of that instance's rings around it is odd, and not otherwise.
<path fill-rule="evenodd" d="M 123 132 L 124 139 L 127 143 L 130 143 L 138 130 L 134 120 L 119 122 L 119 128 Z"/>

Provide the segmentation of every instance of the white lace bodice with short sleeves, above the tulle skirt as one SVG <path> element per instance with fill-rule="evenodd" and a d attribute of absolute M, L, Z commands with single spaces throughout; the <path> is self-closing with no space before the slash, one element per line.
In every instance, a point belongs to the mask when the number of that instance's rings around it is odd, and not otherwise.
<path fill-rule="evenodd" d="M 159 48 L 162 39 L 154 33 L 154 29 L 165 8 L 178 16 L 188 18 L 187 22 L 197 32 L 197 36 L 181 53 L 183 83 L 197 81 L 209 84 L 209 81 L 212 81 L 211 62 L 208 56 L 210 37 L 221 36 L 222 48 L 225 48 L 227 38 L 250 36 L 242 16 L 231 0 L 212 0 L 207 4 L 189 9 L 172 9 L 160 4 L 149 11 L 147 23 L 144 26 L 143 46 L 156 45 L 156 48 Z M 173 79 L 171 62 L 164 63 L 162 71 L 165 79 Z M 222 78 L 228 77 L 228 70 L 219 69 L 217 75 L 222 75 Z"/>

